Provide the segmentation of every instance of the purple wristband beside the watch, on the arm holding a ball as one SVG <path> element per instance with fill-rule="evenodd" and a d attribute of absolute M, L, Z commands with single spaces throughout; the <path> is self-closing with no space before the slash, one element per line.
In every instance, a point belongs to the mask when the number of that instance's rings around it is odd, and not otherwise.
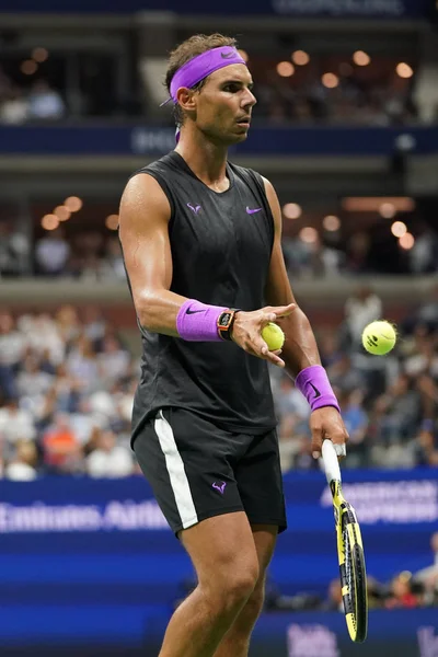
<path fill-rule="evenodd" d="M 196 299 L 188 299 L 176 316 L 180 337 L 189 342 L 222 342 L 218 332 L 218 318 L 224 310 L 227 308 L 221 306 L 208 306 Z"/>

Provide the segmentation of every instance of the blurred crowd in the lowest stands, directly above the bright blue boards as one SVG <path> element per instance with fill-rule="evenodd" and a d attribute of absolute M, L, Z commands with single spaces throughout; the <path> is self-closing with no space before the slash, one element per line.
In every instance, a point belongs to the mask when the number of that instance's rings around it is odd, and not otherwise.
<path fill-rule="evenodd" d="M 321 358 L 349 433 L 346 468 L 438 466 L 438 286 L 400 322 L 395 349 L 366 354 L 360 334 L 382 316 L 360 286 L 336 330 L 315 327 Z M 313 469 L 309 405 L 272 368 L 281 466 Z M 131 474 L 130 412 L 139 360 L 95 307 L 13 316 L 0 312 L 0 471 Z"/>

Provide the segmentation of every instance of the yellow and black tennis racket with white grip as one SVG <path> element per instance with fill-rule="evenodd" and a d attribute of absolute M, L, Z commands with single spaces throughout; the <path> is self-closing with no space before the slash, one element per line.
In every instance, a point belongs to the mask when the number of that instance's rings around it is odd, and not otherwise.
<path fill-rule="evenodd" d="M 361 643 L 367 637 L 368 599 L 360 527 L 355 509 L 344 498 L 337 453 L 331 440 L 322 443 L 322 458 L 333 496 L 345 620 L 350 639 Z"/>

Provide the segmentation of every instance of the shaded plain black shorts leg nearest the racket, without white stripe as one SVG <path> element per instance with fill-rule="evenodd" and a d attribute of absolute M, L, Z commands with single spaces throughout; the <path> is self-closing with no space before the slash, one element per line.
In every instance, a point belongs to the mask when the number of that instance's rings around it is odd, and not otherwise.
<path fill-rule="evenodd" d="M 284 531 L 287 520 L 276 430 L 253 438 L 234 475 L 250 523 Z"/>

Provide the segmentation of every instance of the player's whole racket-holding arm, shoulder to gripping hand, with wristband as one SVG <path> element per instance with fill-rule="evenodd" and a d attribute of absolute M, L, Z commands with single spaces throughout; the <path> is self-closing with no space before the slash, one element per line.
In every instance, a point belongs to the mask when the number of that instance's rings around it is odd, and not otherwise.
<path fill-rule="evenodd" d="M 274 245 L 265 297 L 266 302 L 270 306 L 286 306 L 296 301 L 281 251 L 281 210 L 273 185 L 266 178 L 264 178 L 264 183 L 270 211 L 274 217 Z M 337 403 L 336 397 L 330 387 L 325 370 L 321 367 L 316 341 L 308 318 L 297 306 L 291 314 L 276 321 L 286 335 L 281 355 L 287 372 L 296 379 L 302 370 L 306 370 L 301 377 L 304 377 L 307 383 L 306 385 L 301 385 L 300 390 L 306 394 L 312 407 L 310 428 L 312 431 L 313 457 L 319 458 L 321 456 L 322 442 L 325 438 L 328 438 L 335 445 L 344 446 L 343 449 L 345 450 L 348 433 L 337 407 L 334 405 L 334 403 Z M 316 367 L 313 369 L 313 366 Z M 314 370 L 318 373 L 313 374 Z M 307 376 L 308 373 L 309 376 Z M 309 389 L 309 385 L 311 389 Z M 338 453 L 345 456 L 345 451 L 338 451 Z"/>

